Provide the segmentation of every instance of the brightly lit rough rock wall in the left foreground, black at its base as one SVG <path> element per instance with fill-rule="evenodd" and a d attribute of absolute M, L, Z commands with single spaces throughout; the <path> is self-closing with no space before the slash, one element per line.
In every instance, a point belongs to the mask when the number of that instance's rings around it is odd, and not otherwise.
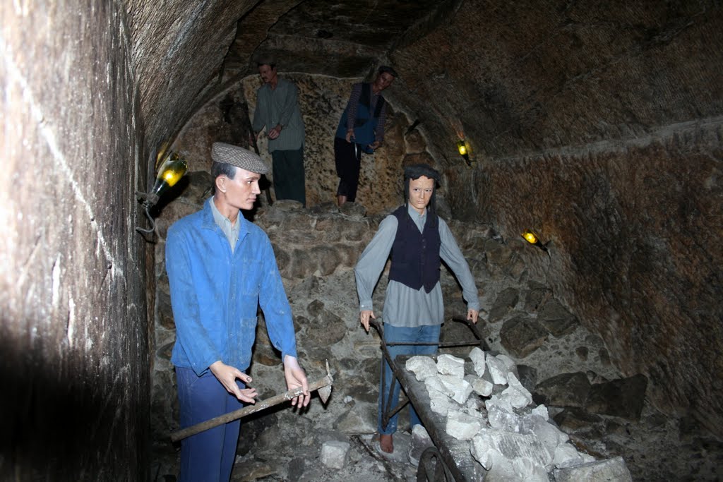
<path fill-rule="evenodd" d="M 2 480 L 147 478 L 139 112 L 101 3 L 0 6 Z"/>

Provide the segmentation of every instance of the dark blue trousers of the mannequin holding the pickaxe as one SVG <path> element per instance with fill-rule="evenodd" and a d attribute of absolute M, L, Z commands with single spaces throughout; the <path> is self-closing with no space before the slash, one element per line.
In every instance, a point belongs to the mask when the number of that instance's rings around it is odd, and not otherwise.
<path fill-rule="evenodd" d="M 176 366 L 181 429 L 243 407 L 210 372 L 197 376 Z M 239 387 L 244 384 L 236 380 Z M 202 431 L 181 440 L 179 482 L 228 482 L 236 460 L 241 421 Z"/>

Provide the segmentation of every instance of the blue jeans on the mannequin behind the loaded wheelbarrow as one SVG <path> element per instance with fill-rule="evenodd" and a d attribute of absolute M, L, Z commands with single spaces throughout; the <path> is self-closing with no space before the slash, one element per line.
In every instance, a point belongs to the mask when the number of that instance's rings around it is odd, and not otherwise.
<path fill-rule="evenodd" d="M 385 343 L 401 343 L 401 342 L 416 342 L 416 343 L 439 343 L 440 341 L 440 324 L 427 325 L 422 327 L 405 328 L 395 327 L 391 324 L 384 324 L 384 341 Z M 397 345 L 387 347 L 389 356 L 392 360 L 398 355 L 434 355 L 437 353 L 437 345 Z M 383 427 L 382 417 L 387 405 L 389 392 L 391 390 L 393 380 L 392 369 L 387 363 L 386 359 L 382 357 L 382 378 L 380 379 L 379 386 L 379 418 L 377 421 L 377 430 L 380 434 L 388 435 L 393 434 L 397 431 L 398 413 L 389 419 L 386 427 Z M 395 382 L 394 390 L 392 392 L 392 406 L 390 410 L 393 410 L 399 402 L 399 383 Z M 419 420 L 419 416 L 416 414 L 414 407 L 409 404 L 409 426 L 422 424 Z"/>

